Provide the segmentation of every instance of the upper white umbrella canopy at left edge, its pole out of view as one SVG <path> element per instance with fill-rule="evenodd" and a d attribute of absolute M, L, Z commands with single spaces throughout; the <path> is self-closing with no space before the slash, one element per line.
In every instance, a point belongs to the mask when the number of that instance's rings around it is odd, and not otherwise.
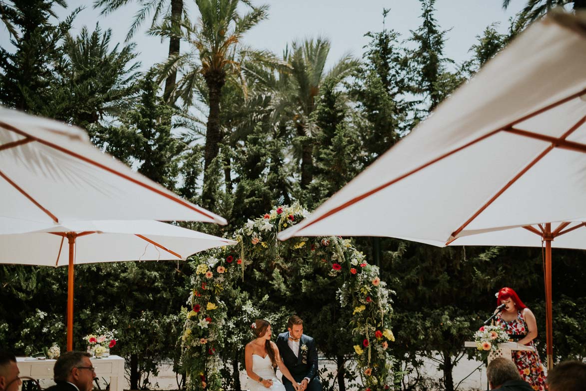
<path fill-rule="evenodd" d="M 226 224 L 223 217 L 104 154 L 83 130 L 4 107 L 0 107 L 0 194 L 0 219 Z"/>

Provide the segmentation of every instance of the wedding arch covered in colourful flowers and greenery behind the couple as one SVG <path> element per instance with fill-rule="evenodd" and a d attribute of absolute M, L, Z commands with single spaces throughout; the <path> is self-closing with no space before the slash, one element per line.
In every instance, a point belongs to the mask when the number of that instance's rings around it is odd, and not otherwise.
<path fill-rule="evenodd" d="M 242 299 L 243 311 L 229 313 L 238 298 L 247 269 L 261 259 L 288 262 L 310 260 L 330 279 L 342 279 L 338 290 L 340 307 L 351 314 L 357 371 L 362 390 L 389 389 L 393 383 L 389 345 L 394 342 L 390 328 L 389 290 L 379 278 L 379 268 L 367 263 L 365 256 L 340 237 L 299 237 L 286 242 L 277 234 L 301 221 L 307 212 L 299 205 L 278 206 L 234 233 L 239 244 L 198 254 L 192 261 L 193 290 L 189 309 L 183 311 L 182 366 L 188 376 L 190 391 L 220 391 L 222 387 L 223 349 L 228 344 L 250 341 L 250 324 L 261 311 L 254 303 Z M 272 264 L 272 263 L 271 263 Z M 332 298 L 334 300 L 335 298 Z M 263 300 L 270 300 L 265 297 Z M 263 303 L 259 303 L 262 305 Z M 270 320 L 270 319 L 269 319 Z M 237 358 L 236 358 L 237 359 Z M 235 367 L 237 368 L 237 366 Z"/>

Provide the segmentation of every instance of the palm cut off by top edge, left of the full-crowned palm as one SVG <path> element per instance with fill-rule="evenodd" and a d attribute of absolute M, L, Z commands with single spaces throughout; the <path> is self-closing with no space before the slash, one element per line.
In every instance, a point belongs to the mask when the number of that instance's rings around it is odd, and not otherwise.
<path fill-rule="evenodd" d="M 121 6 L 127 5 L 134 0 L 94 0 L 94 8 L 101 8 L 100 15 L 108 15 L 120 8 Z M 145 21 L 147 16 L 154 12 L 152 16 L 151 27 L 154 27 L 162 21 L 163 18 L 168 18 L 171 21 L 171 25 L 174 29 L 179 29 L 182 18 L 187 18 L 188 15 L 183 7 L 183 0 L 137 0 L 140 5 L 140 9 L 134 15 L 134 21 L 128 34 L 126 36 L 127 42 L 134 36 L 137 29 Z M 180 36 L 178 34 L 169 37 L 169 58 L 179 56 L 180 49 Z M 172 70 L 171 73 L 166 75 L 165 90 L 163 91 L 163 98 L 169 101 L 169 97 L 172 96 L 172 91 L 175 89 L 175 83 L 177 79 L 176 70 Z"/>

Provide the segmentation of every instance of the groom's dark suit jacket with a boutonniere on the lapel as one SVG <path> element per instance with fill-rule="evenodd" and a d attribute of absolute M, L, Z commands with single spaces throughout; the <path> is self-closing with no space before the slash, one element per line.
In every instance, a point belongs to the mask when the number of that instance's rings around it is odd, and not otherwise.
<path fill-rule="evenodd" d="M 283 363 L 295 380 L 299 382 L 304 378 L 309 378 L 311 382 L 318 374 L 318 349 L 315 346 L 314 339 L 305 334 L 301 335 L 297 357 L 295 357 L 295 353 L 289 348 L 288 340 L 288 331 L 279 334 L 277 338 L 277 348 L 279 349 Z M 304 350 L 303 346 L 306 346 L 307 349 Z M 283 383 L 286 382 L 289 382 L 289 380 L 283 376 Z"/>

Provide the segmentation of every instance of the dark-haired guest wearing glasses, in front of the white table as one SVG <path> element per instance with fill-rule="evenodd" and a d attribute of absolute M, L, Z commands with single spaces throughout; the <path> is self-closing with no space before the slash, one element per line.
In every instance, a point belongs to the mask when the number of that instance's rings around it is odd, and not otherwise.
<path fill-rule="evenodd" d="M 91 391 L 96 377 L 90 353 L 67 352 L 57 358 L 53 380 L 57 383 L 46 391 Z"/>

